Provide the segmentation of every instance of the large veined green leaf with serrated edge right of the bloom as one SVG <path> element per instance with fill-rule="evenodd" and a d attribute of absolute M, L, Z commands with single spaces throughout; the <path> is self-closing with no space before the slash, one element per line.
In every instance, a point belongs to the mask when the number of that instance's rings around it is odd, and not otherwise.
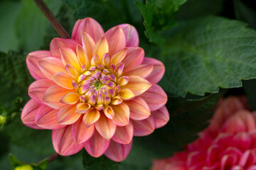
<path fill-rule="evenodd" d="M 256 78 L 256 31 L 246 26 L 214 16 L 179 23 L 161 47 L 166 73 L 160 84 L 178 96 L 203 96 Z"/>

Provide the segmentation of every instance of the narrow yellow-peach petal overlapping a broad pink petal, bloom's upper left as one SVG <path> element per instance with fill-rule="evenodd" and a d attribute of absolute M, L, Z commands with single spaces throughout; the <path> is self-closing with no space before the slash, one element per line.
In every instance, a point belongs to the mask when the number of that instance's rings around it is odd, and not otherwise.
<path fill-rule="evenodd" d="M 63 64 L 65 66 L 69 64 L 70 66 L 74 67 L 78 71 L 81 69 L 78 61 L 78 57 L 75 54 L 75 51 L 73 51 L 68 47 L 62 47 L 60 48 L 60 53 L 61 53 L 61 60 L 63 61 Z"/>

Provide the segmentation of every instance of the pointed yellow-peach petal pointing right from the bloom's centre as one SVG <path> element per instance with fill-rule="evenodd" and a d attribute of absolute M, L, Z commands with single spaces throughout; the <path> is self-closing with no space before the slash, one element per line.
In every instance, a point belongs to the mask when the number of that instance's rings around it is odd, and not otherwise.
<path fill-rule="evenodd" d="M 130 76 L 128 84 L 122 88 L 130 89 L 134 92 L 135 96 L 139 96 L 151 87 L 151 83 L 142 77 Z"/>

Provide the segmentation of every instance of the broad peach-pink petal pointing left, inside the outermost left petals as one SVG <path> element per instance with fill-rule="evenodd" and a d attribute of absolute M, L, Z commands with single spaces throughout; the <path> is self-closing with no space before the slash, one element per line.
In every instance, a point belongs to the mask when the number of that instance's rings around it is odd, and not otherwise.
<path fill-rule="evenodd" d="M 60 98 L 68 94 L 70 90 L 63 89 L 58 85 L 50 86 L 43 95 L 42 101 L 50 108 L 60 109 L 65 106 L 65 103 L 60 103 Z"/>

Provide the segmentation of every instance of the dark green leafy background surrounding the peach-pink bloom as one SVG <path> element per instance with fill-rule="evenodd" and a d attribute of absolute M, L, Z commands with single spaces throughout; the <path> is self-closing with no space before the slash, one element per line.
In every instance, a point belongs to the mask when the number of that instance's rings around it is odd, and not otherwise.
<path fill-rule="evenodd" d="M 80 152 L 61 157 L 49 164 L 48 170 L 149 169 L 151 159 L 171 156 L 195 140 L 224 94 L 246 94 L 250 108 L 256 109 L 255 1 L 45 2 L 70 35 L 75 21 L 85 17 L 95 18 L 104 30 L 120 23 L 135 26 L 146 56 L 166 64 L 160 85 L 169 94 L 166 105 L 171 115 L 164 128 L 148 137 L 134 137 L 124 162 L 95 159 Z M 48 50 L 50 40 L 58 34 L 31 0 L 1 0 L 0 23 L 0 115 L 9 118 L 0 126 L 0 169 L 9 170 L 9 153 L 28 164 L 54 153 L 51 131 L 27 128 L 20 114 L 33 82 L 26 69 L 26 55 Z"/>

